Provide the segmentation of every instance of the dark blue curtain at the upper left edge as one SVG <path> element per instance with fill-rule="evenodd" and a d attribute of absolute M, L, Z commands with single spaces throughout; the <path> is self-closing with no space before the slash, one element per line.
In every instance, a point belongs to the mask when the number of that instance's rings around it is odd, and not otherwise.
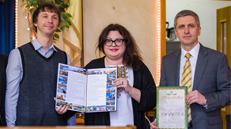
<path fill-rule="evenodd" d="M 0 53 L 9 55 L 15 48 L 15 0 L 0 4 Z"/>

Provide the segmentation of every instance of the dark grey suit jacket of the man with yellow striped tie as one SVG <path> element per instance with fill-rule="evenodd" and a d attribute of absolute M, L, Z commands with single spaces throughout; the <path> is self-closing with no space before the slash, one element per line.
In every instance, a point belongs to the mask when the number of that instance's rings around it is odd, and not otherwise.
<path fill-rule="evenodd" d="M 160 86 L 179 86 L 181 49 L 162 58 Z M 194 129 L 223 129 L 221 108 L 230 104 L 230 68 L 227 57 L 200 44 L 193 90 L 207 100 L 207 109 L 191 104 Z"/>

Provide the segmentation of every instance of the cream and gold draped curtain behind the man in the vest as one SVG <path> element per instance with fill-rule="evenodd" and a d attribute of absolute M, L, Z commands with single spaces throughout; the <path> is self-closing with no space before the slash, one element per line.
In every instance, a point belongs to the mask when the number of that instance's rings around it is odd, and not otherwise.
<path fill-rule="evenodd" d="M 67 13 L 72 15 L 69 19 L 71 26 L 63 32 L 63 50 L 69 54 L 71 65 L 79 66 L 82 58 L 82 0 L 70 0 Z M 83 67 L 83 66 L 82 66 Z"/>

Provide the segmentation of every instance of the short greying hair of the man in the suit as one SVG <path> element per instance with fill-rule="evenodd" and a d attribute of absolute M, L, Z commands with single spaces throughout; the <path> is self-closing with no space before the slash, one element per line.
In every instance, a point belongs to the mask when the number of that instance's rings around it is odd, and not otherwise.
<path fill-rule="evenodd" d="M 174 28 L 175 29 L 176 29 L 176 25 L 177 25 L 177 19 L 179 17 L 184 17 L 184 16 L 193 16 L 196 20 L 197 26 L 200 27 L 200 19 L 195 12 L 193 12 L 191 10 L 182 10 L 175 16 L 175 19 L 174 19 Z"/>

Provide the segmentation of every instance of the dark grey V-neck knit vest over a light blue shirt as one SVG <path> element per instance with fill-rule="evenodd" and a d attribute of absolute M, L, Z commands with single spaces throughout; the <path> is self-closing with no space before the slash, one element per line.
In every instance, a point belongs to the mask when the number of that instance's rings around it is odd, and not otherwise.
<path fill-rule="evenodd" d="M 49 58 L 43 57 L 31 43 L 19 47 L 23 78 L 19 87 L 16 126 L 67 125 L 55 111 L 58 63 L 67 63 L 66 53 L 56 48 Z"/>

